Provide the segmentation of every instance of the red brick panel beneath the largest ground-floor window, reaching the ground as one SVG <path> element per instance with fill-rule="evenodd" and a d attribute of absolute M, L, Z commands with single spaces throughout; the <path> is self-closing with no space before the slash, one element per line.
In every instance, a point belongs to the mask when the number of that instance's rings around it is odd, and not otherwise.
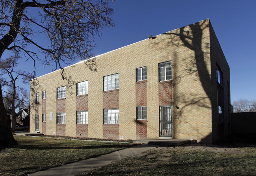
<path fill-rule="evenodd" d="M 103 139 L 119 139 L 119 124 L 103 124 Z"/>

